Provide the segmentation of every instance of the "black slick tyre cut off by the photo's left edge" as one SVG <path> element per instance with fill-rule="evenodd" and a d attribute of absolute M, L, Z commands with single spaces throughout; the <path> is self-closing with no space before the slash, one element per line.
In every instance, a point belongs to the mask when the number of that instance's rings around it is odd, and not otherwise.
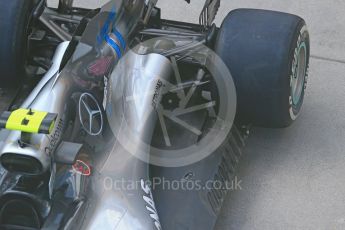
<path fill-rule="evenodd" d="M 24 76 L 28 24 L 33 0 L 0 0 L 0 87 L 15 86 Z"/>

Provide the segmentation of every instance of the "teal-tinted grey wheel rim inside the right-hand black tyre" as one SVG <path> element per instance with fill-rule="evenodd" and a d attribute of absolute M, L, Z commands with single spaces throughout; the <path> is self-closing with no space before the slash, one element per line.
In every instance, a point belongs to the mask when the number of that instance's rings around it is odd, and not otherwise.
<path fill-rule="evenodd" d="M 291 79 L 291 90 L 292 90 L 292 103 L 298 105 L 301 101 L 305 82 L 307 64 L 307 47 L 303 42 L 298 48 L 296 66 Z"/>

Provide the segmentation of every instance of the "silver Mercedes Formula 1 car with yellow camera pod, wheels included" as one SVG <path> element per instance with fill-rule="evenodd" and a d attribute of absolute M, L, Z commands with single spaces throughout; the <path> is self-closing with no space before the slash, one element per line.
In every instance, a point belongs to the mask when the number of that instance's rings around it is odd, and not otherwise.
<path fill-rule="evenodd" d="M 214 228 L 250 126 L 301 111 L 304 20 L 72 3 L 0 1 L 0 229 Z"/>

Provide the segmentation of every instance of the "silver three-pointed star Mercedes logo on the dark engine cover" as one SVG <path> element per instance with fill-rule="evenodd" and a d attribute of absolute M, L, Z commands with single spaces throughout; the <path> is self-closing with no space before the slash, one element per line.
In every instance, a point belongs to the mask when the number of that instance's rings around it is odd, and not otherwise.
<path fill-rule="evenodd" d="M 89 93 L 83 93 L 79 99 L 79 120 L 84 130 L 91 136 L 101 134 L 103 113 L 98 101 Z"/>

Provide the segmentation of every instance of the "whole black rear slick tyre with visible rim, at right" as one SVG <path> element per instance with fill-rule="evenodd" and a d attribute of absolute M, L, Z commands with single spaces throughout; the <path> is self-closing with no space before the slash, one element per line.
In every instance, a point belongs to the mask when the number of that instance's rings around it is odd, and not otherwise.
<path fill-rule="evenodd" d="M 296 120 L 310 55 L 302 18 L 267 10 L 234 10 L 222 23 L 215 51 L 234 78 L 238 121 L 282 128 Z"/>

